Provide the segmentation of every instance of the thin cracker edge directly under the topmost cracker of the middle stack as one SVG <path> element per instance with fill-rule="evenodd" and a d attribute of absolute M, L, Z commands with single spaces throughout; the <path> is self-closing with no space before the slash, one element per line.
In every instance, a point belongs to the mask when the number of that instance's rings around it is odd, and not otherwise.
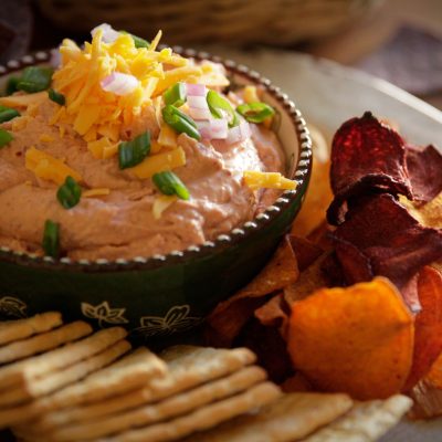
<path fill-rule="evenodd" d="M 165 421 L 177 415 L 192 412 L 211 402 L 229 398 L 244 392 L 249 388 L 265 380 L 265 371 L 256 366 L 243 368 L 225 378 L 204 383 L 192 390 L 165 399 L 160 402 L 129 410 L 122 414 L 108 415 L 85 423 L 64 424 L 59 423 L 55 429 L 39 428 L 40 438 L 33 432 L 36 440 L 46 441 L 78 441 L 95 440 L 109 434 L 129 430 L 130 428 L 146 427 L 148 424 Z M 49 414 L 48 418 L 51 418 Z M 48 422 L 48 420 L 46 420 Z M 35 427 L 28 425 L 28 430 Z"/>

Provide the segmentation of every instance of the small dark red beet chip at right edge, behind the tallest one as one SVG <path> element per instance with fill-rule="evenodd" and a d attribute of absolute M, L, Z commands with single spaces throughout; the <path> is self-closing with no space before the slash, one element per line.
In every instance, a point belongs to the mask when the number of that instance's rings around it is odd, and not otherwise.
<path fill-rule="evenodd" d="M 442 191 L 442 155 L 433 146 L 407 147 L 407 168 L 413 200 L 429 202 Z"/>

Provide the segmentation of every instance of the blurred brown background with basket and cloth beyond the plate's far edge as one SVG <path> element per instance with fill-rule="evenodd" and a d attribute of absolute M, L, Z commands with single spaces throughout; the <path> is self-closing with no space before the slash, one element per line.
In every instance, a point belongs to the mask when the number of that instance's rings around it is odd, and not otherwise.
<path fill-rule="evenodd" d="M 441 0 L 1 0 L 0 63 L 107 22 L 194 48 L 283 49 L 337 61 L 442 109 Z"/>

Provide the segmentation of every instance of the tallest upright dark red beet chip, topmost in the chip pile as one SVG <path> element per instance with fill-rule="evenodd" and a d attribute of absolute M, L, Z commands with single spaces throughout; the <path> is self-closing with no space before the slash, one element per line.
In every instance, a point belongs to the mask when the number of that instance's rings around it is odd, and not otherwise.
<path fill-rule="evenodd" d="M 343 204 L 351 197 L 366 193 L 367 189 L 412 199 L 404 143 L 370 112 L 344 123 L 335 134 L 330 177 L 335 193 L 327 211 L 330 224 L 341 223 Z"/>

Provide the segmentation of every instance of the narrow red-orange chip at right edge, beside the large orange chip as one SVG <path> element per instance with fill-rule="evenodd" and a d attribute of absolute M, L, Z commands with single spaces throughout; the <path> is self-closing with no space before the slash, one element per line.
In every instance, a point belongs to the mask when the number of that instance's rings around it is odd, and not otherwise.
<path fill-rule="evenodd" d="M 436 270 L 419 272 L 418 293 L 422 311 L 415 317 L 413 365 L 404 391 L 427 375 L 442 351 L 442 276 Z"/>

